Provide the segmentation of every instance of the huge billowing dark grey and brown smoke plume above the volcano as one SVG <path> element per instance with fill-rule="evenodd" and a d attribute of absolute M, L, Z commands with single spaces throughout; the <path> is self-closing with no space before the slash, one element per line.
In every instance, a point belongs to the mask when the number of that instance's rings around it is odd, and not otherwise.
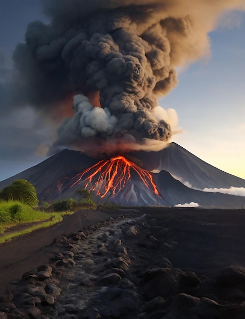
<path fill-rule="evenodd" d="M 44 1 L 51 23 L 30 23 L 14 52 L 22 95 L 59 118 L 65 114 L 59 105 L 74 96 L 73 117 L 60 125 L 55 147 L 89 150 L 97 141 L 100 151 L 116 145 L 160 149 L 177 116 L 174 110 L 159 111 L 157 98 L 176 86 L 177 66 L 208 55 L 207 34 L 220 14 L 242 9 L 243 3 Z"/>

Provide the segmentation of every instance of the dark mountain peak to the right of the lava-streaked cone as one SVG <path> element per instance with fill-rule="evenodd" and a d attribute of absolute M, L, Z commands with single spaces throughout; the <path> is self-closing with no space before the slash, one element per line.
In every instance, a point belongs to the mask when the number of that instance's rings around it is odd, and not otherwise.
<path fill-rule="evenodd" d="M 194 189 L 244 187 L 245 180 L 226 173 L 172 142 L 159 152 L 139 152 L 144 157 L 144 169 L 165 170 Z"/>

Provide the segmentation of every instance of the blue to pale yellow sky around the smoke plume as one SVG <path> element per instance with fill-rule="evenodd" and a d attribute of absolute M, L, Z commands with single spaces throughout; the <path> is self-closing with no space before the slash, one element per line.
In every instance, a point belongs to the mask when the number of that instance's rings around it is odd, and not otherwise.
<path fill-rule="evenodd" d="M 20 5 L 21 4 L 21 5 Z M 39 0 L 0 0 L 0 83 L 11 74 L 12 54 L 26 25 L 48 21 Z M 179 83 L 159 99 L 173 108 L 181 133 L 172 141 L 203 161 L 245 179 L 245 13 L 221 19 L 209 34 L 211 53 L 177 70 Z M 10 75 L 9 75 L 10 76 Z M 0 91 L 1 94 L 1 91 Z M 0 105 L 0 180 L 45 158 L 56 132 L 30 105 L 6 112 Z"/>

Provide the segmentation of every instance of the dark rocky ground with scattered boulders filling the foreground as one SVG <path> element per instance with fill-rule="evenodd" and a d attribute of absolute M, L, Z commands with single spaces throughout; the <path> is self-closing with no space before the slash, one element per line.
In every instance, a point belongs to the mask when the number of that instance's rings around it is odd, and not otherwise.
<path fill-rule="evenodd" d="M 243 210 L 140 208 L 57 238 L 2 318 L 245 318 Z"/>

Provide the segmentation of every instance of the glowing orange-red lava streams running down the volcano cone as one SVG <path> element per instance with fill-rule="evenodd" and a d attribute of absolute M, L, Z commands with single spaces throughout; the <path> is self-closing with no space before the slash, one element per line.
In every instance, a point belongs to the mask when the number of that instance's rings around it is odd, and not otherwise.
<path fill-rule="evenodd" d="M 85 188 L 89 188 L 89 191 L 96 191 L 97 195 L 101 198 L 105 197 L 109 191 L 112 191 L 113 195 L 117 195 L 123 190 L 126 182 L 130 179 L 130 170 L 136 172 L 145 186 L 159 196 L 152 175 L 148 171 L 135 165 L 133 162 L 128 161 L 124 156 L 103 159 L 83 173 L 77 174 L 73 178 L 78 179 L 71 187 L 85 177 Z M 93 182 L 94 178 L 96 178 L 96 182 Z"/>

